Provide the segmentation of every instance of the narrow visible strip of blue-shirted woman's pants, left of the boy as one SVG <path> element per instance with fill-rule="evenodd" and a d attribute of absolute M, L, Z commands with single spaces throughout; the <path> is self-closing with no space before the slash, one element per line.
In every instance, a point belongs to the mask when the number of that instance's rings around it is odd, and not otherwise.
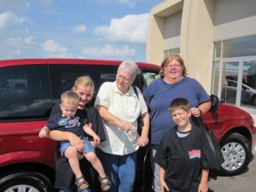
<path fill-rule="evenodd" d="M 154 172 L 152 189 L 154 190 L 154 192 L 161 192 L 160 183 L 159 183 L 160 166 L 154 162 L 154 155 L 156 154 L 157 147 L 158 147 L 158 144 L 150 144 L 150 163 L 151 163 L 152 170 Z"/>

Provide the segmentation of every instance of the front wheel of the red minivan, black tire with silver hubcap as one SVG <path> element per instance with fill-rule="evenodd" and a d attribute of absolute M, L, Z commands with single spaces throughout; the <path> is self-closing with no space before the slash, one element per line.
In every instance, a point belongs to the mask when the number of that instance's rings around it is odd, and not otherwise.
<path fill-rule="evenodd" d="M 232 133 L 226 137 L 221 144 L 221 151 L 224 155 L 221 173 L 231 176 L 243 172 L 251 160 L 250 146 L 247 138 L 239 133 Z"/>

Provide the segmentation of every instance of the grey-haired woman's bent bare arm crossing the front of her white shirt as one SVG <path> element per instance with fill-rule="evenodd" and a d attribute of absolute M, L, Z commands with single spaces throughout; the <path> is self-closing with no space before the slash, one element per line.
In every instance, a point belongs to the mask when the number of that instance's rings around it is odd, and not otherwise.
<path fill-rule="evenodd" d="M 119 119 L 118 117 L 114 116 L 112 113 L 108 111 L 108 108 L 97 105 L 97 109 L 105 121 L 107 121 L 109 124 L 117 125 L 119 126 L 123 131 L 131 131 L 131 123 L 128 121 L 124 121 L 122 119 Z"/>

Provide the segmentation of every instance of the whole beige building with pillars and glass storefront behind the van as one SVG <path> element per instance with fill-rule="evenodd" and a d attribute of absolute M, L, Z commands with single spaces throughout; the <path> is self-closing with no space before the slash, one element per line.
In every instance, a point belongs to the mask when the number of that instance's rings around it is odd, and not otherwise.
<path fill-rule="evenodd" d="M 255 24 L 255 0 L 165 0 L 150 12 L 147 62 L 180 53 L 209 94 L 256 113 Z"/>

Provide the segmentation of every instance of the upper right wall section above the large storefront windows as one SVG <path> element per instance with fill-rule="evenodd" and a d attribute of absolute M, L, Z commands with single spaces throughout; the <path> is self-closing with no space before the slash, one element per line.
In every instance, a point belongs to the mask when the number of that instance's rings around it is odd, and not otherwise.
<path fill-rule="evenodd" d="M 217 0 L 212 41 L 255 34 L 255 4 L 255 0 Z"/>

